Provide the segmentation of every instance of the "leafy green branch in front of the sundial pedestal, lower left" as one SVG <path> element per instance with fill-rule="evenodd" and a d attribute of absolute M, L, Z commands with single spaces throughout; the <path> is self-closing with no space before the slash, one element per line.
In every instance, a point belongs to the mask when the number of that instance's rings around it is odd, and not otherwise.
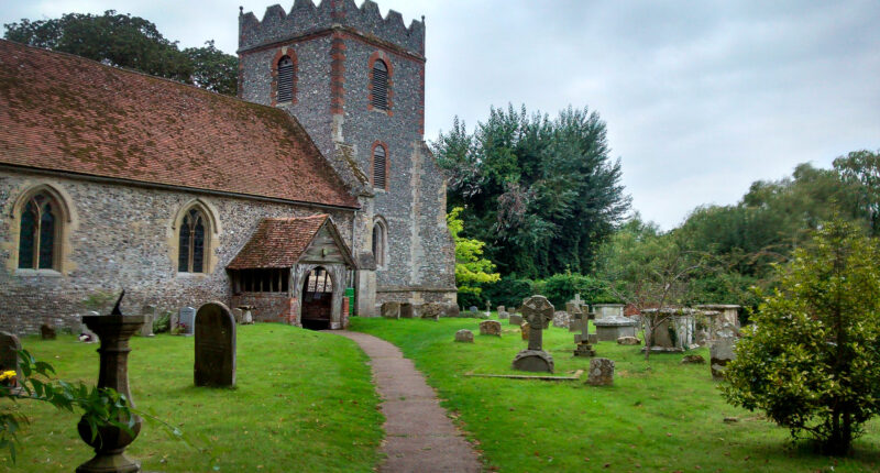
<path fill-rule="evenodd" d="M 99 435 L 101 426 L 116 426 L 132 433 L 135 416 L 124 395 L 110 388 L 89 387 L 52 378 L 55 369 L 51 364 L 36 361 L 26 350 L 19 352 L 21 377 L 15 385 L 0 384 L 0 399 L 36 400 L 47 403 L 57 409 L 82 411 L 88 422 L 91 439 Z M 0 410 L 0 448 L 9 449 L 12 461 L 16 458 L 18 431 L 28 418 L 10 409 Z"/>

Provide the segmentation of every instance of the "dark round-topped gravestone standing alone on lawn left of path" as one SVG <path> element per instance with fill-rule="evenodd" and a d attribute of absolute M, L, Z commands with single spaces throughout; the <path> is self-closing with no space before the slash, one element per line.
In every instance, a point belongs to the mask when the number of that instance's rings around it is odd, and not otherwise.
<path fill-rule="evenodd" d="M 235 319 L 221 302 L 196 314 L 196 386 L 235 385 Z"/>

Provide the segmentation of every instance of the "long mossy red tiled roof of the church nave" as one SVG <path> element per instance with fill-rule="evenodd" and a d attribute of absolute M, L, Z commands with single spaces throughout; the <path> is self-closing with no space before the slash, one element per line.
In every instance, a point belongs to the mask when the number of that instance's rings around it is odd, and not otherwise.
<path fill-rule="evenodd" d="M 358 207 L 282 110 L 2 40 L 0 163 Z"/>

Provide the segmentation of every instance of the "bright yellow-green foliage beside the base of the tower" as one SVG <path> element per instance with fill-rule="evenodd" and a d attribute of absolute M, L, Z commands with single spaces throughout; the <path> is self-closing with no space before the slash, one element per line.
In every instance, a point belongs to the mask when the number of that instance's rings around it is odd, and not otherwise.
<path fill-rule="evenodd" d="M 482 257 L 485 243 L 460 235 L 464 230 L 464 223 L 459 217 L 462 210 L 461 207 L 455 207 L 447 215 L 447 224 L 455 241 L 455 284 L 459 293 L 479 295 L 482 292 L 481 284 L 497 283 L 501 275 L 492 273 L 495 265 Z"/>

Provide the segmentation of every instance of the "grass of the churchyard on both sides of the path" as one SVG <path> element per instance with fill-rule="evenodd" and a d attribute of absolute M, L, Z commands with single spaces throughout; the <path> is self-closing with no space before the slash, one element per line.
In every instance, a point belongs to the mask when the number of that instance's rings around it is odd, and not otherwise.
<path fill-rule="evenodd" d="M 880 468 L 879 422 L 867 425 L 848 458 L 810 453 L 759 414 L 727 405 L 708 364 L 681 363 L 693 354 L 707 360 L 705 348 L 646 361 L 639 345 L 594 342 L 596 356 L 615 363 L 614 384 L 597 387 L 585 383 L 595 359 L 573 355 L 575 332 L 548 324 L 542 350 L 554 372 L 526 373 L 512 361 L 529 340 L 509 319 L 499 322 L 501 337 L 495 323 L 473 318 L 355 317 L 350 329 L 391 341 L 414 360 L 487 471 Z M 473 342 L 457 342 L 460 330 L 470 330 Z M 382 461 L 383 416 L 363 352 L 342 337 L 285 324 L 238 326 L 237 332 L 237 380 L 226 388 L 194 386 L 195 337 L 132 339 L 130 384 L 139 409 L 179 427 L 194 446 L 145 422 L 128 455 L 144 471 L 373 471 Z M 62 378 L 96 380 L 96 344 L 58 334 L 26 337 L 22 345 Z M 532 374 L 576 381 L 483 377 Z M 78 414 L 20 408 L 31 418 L 25 448 L 18 464 L 4 457 L 0 469 L 70 471 L 89 457 L 75 429 Z"/>

